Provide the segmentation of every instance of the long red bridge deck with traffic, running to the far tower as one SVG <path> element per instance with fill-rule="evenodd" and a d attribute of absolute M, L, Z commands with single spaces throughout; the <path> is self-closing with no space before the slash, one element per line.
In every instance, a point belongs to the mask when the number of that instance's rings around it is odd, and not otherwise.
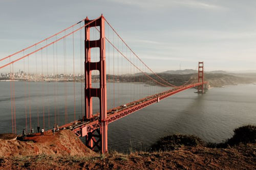
<path fill-rule="evenodd" d="M 196 86 L 200 86 L 202 84 L 206 84 L 207 82 L 200 82 L 189 84 L 185 86 L 181 86 L 178 88 L 173 88 L 161 93 L 157 93 L 154 95 L 147 96 L 146 98 L 139 99 L 137 101 L 127 103 L 123 106 L 115 107 L 111 110 L 108 110 L 108 118 L 106 121 L 108 123 L 112 123 L 115 120 L 118 120 L 126 115 L 132 114 L 140 109 L 143 109 L 147 106 L 150 106 L 154 103 L 160 102 L 161 100 L 168 98 L 169 96 L 176 94 L 178 92 L 184 91 L 189 88 L 193 88 Z M 91 119 L 82 119 L 72 122 L 70 124 L 66 124 L 61 126 L 60 128 L 70 129 L 72 130 L 77 136 L 83 137 L 86 136 L 89 132 L 93 132 L 94 130 L 100 128 L 100 116 L 96 114 L 94 118 Z"/>

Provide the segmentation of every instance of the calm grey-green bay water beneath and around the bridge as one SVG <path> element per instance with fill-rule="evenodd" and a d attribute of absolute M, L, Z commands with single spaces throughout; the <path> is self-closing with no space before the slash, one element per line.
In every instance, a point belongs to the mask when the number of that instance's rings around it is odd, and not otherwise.
<path fill-rule="evenodd" d="M 0 133 L 9 133 L 12 132 L 11 103 L 14 106 L 10 97 L 12 86 L 10 82 L 0 84 Z M 114 102 L 113 87 L 113 83 L 108 83 L 108 109 L 114 103 L 119 106 L 147 96 L 152 91 L 167 90 L 159 86 L 115 83 Z M 76 118 L 80 118 L 83 112 L 81 89 L 83 84 L 75 83 Z M 256 124 L 256 85 L 212 88 L 205 94 L 197 94 L 195 91 L 188 89 L 180 92 L 109 124 L 109 150 L 144 151 L 150 149 L 150 145 L 160 137 L 175 133 L 197 135 L 205 141 L 221 142 L 232 136 L 234 128 Z M 17 133 L 22 133 L 26 128 L 26 112 L 28 130 L 30 122 L 34 130 L 38 123 L 40 127 L 43 126 L 43 109 L 46 129 L 52 128 L 55 122 L 58 125 L 65 121 L 72 122 L 75 118 L 73 92 L 73 82 L 15 82 Z M 95 113 L 99 110 L 97 105 L 98 101 L 94 100 Z"/>

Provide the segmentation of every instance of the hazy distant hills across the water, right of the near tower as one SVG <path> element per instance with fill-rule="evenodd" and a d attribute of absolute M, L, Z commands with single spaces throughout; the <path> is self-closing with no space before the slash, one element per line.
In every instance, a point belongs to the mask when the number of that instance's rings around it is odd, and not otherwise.
<path fill-rule="evenodd" d="M 188 71 L 189 72 L 189 71 Z M 256 82 L 256 76 L 254 74 L 223 74 L 216 72 L 223 71 L 213 71 L 214 73 L 207 72 L 204 74 L 204 80 L 210 83 L 211 87 L 223 87 L 227 85 L 237 85 L 237 84 L 247 84 Z M 183 85 L 185 83 L 195 83 L 198 81 L 197 73 L 193 74 L 167 74 L 167 73 L 159 73 L 157 74 L 159 77 L 176 86 Z M 148 74 L 153 79 L 163 83 L 156 75 Z M 98 77 L 93 77 L 98 79 Z M 107 81 L 113 82 L 140 82 L 146 83 L 150 85 L 157 85 L 156 82 L 151 79 L 145 77 L 144 75 L 106 75 Z M 164 83 L 166 84 L 166 83 Z"/>

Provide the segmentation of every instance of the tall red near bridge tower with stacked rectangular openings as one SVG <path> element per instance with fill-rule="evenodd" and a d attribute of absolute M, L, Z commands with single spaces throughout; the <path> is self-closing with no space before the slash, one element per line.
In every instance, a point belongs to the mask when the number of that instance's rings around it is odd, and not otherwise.
<path fill-rule="evenodd" d="M 84 23 L 90 20 L 87 18 Z M 108 119 L 106 105 L 106 62 L 105 62 L 105 18 L 103 15 L 85 27 L 85 62 L 84 62 L 84 92 L 85 92 L 85 110 L 86 119 L 94 119 L 92 98 L 99 98 L 100 104 L 100 130 L 94 130 L 86 136 L 86 144 L 92 150 L 99 150 L 102 154 L 108 152 Z M 90 28 L 99 27 L 100 38 L 98 40 L 90 40 Z M 98 47 L 99 61 L 91 62 L 91 48 Z M 100 87 L 92 88 L 92 70 L 99 70 Z"/>

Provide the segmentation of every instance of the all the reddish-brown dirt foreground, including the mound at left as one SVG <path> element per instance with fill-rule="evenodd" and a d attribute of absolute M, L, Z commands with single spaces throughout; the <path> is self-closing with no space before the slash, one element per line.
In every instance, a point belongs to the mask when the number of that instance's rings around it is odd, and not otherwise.
<path fill-rule="evenodd" d="M 0 139 L 0 169 L 256 169 L 256 143 L 100 155 L 68 130 L 26 140 Z"/>

